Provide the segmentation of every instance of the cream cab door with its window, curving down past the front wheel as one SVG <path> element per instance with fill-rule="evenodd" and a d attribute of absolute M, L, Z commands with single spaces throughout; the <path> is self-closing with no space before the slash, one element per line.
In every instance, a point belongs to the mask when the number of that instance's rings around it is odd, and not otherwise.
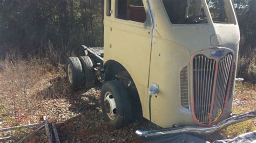
<path fill-rule="evenodd" d="M 152 43 L 149 6 L 146 0 L 115 0 L 113 13 L 111 58 L 121 63 L 132 76 L 145 116 Z"/>

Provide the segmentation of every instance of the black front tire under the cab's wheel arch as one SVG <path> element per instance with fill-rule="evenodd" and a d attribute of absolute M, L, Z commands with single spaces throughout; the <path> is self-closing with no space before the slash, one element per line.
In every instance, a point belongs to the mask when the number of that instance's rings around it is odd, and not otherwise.
<path fill-rule="evenodd" d="M 107 103 L 105 102 L 106 94 L 110 92 L 116 103 L 116 117 L 112 118 L 108 115 Z M 103 84 L 100 97 L 104 120 L 113 127 L 120 128 L 128 125 L 132 116 L 132 104 L 129 94 L 120 81 L 108 81 Z M 111 108 L 110 108 L 111 109 Z M 110 111 L 110 110 L 109 110 Z"/>

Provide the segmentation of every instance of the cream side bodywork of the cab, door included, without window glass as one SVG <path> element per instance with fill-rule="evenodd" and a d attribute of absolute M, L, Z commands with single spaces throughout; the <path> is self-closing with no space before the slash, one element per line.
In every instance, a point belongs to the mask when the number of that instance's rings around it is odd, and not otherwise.
<path fill-rule="evenodd" d="M 129 72 L 139 93 L 143 116 L 146 116 L 144 111 L 148 109 L 146 95 L 152 43 L 151 13 L 147 1 L 143 1 L 145 22 L 134 22 L 134 19 L 139 19 L 141 16 L 134 17 L 134 13 L 131 12 L 133 20 L 118 18 L 118 1 L 112 0 L 111 3 L 113 10 L 110 17 L 111 25 L 105 27 L 107 32 L 104 33 L 104 38 L 111 37 L 107 38 L 107 40 L 111 40 L 104 42 L 104 53 L 107 51 L 107 54 L 104 54 L 104 63 L 109 60 L 117 61 Z"/>

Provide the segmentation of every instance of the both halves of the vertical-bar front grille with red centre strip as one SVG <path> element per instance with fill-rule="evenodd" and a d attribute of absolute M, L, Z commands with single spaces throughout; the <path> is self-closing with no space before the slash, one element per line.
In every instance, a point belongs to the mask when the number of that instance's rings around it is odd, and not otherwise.
<path fill-rule="evenodd" d="M 196 55 L 193 59 L 192 110 L 201 124 L 212 124 L 223 112 L 232 59 L 231 53 L 220 60 L 208 59 L 204 55 Z"/>

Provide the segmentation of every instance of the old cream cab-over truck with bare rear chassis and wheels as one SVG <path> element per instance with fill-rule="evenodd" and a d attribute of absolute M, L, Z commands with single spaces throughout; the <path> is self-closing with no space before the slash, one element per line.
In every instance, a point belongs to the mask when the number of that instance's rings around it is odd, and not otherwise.
<path fill-rule="evenodd" d="M 239 41 L 231 0 L 105 0 L 104 54 L 83 46 L 68 78 L 103 83 L 113 126 L 134 113 L 161 127 L 212 126 L 232 111 Z"/>

